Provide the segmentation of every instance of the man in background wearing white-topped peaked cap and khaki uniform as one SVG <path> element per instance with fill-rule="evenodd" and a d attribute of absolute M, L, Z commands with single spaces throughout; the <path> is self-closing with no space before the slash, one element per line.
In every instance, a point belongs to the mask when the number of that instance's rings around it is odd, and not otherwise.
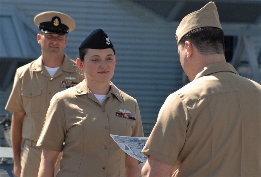
<path fill-rule="evenodd" d="M 50 100 L 55 93 L 83 80 L 75 71 L 75 61 L 64 53 L 67 34 L 75 29 L 74 20 L 64 13 L 48 11 L 36 15 L 34 23 L 40 30 L 37 42 L 41 46 L 41 56 L 17 69 L 13 90 L 5 107 L 14 112 L 11 141 L 16 176 L 38 175 L 42 150 L 36 146 L 36 142 Z M 23 139 L 25 145 L 22 148 Z M 60 158 L 55 174 L 60 166 Z"/>

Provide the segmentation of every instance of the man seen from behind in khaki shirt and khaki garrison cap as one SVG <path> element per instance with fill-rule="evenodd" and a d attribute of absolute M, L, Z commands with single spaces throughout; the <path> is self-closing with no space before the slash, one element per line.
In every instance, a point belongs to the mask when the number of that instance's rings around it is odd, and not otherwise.
<path fill-rule="evenodd" d="M 176 38 L 191 82 L 159 111 L 141 176 L 261 176 L 261 85 L 226 63 L 215 3 L 185 16 Z"/>

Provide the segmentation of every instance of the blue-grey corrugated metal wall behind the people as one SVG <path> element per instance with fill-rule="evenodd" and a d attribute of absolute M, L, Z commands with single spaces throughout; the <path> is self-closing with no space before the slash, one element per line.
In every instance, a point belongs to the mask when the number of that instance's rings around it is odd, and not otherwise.
<path fill-rule="evenodd" d="M 165 98 L 181 87 L 182 68 L 175 40 L 176 26 L 120 0 L 1 0 L 1 9 L 15 10 L 34 26 L 44 11 L 70 15 L 76 28 L 68 35 L 65 52 L 78 56 L 78 47 L 93 30 L 102 28 L 117 56 L 112 82 L 137 99 L 143 121 L 156 121 Z M 2 25 L 2 24 L 1 24 Z M 22 35 L 22 34 L 21 34 Z M 36 36 L 32 36 L 35 37 Z M 39 46 L 40 47 L 40 46 Z M 1 108 L 4 109 L 4 108 Z"/>

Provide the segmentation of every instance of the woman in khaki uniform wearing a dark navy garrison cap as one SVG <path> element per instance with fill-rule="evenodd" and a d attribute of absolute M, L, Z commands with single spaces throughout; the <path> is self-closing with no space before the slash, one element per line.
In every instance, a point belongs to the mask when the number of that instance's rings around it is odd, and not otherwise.
<path fill-rule="evenodd" d="M 63 151 L 57 176 L 138 176 L 138 160 L 110 136 L 143 137 L 136 99 L 110 81 L 116 64 L 110 37 L 94 30 L 80 44 L 76 63 L 85 80 L 51 100 L 37 142 L 42 161 L 53 162 Z M 41 164 L 39 175 L 47 176 L 48 167 L 54 164 Z"/>

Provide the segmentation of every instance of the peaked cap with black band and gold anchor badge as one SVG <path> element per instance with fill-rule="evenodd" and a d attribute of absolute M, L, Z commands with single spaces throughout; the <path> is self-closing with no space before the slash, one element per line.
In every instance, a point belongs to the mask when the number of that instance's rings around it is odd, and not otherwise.
<path fill-rule="evenodd" d="M 67 35 L 75 29 L 74 20 L 61 12 L 47 11 L 34 17 L 34 23 L 44 33 Z"/>

